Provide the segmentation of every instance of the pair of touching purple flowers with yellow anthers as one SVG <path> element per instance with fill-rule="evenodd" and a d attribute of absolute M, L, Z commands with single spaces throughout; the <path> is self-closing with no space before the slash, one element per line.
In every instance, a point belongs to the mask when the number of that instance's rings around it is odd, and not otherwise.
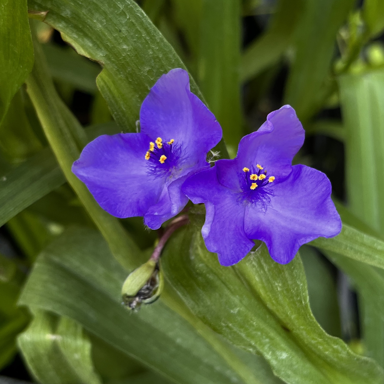
<path fill-rule="evenodd" d="M 116 217 L 144 217 L 159 228 L 187 204 L 204 203 L 202 235 L 222 265 L 266 243 L 285 264 L 299 247 L 341 230 L 331 184 L 313 168 L 292 166 L 304 129 L 290 106 L 242 138 L 237 156 L 210 167 L 207 152 L 221 139 L 214 115 L 174 69 L 152 87 L 140 110 L 140 133 L 99 136 L 73 164 L 101 207 Z"/>

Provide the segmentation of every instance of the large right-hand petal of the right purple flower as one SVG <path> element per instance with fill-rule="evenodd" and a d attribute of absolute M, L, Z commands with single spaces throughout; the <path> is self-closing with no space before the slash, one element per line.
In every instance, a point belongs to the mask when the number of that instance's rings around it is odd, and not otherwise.
<path fill-rule="evenodd" d="M 331 183 L 316 169 L 293 166 L 288 178 L 274 185 L 266 212 L 248 206 L 244 228 L 248 238 L 266 243 L 273 260 L 289 263 L 304 243 L 340 233 L 341 220 L 331 200 Z"/>

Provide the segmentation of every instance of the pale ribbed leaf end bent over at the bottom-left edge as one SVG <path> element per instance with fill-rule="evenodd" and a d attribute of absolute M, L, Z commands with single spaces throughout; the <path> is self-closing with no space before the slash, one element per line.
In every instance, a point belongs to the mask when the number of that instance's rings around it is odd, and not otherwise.
<path fill-rule="evenodd" d="M 33 377 L 42 384 L 100 384 L 91 359 L 91 343 L 80 324 L 34 311 L 18 337 L 18 346 Z"/>

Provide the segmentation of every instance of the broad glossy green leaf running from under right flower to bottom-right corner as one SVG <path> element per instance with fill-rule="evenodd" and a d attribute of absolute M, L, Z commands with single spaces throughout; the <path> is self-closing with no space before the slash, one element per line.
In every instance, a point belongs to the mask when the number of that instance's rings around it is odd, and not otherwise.
<path fill-rule="evenodd" d="M 223 267 L 205 248 L 200 228 L 192 238 L 188 232 L 180 230 L 170 240 L 162 265 L 187 306 L 215 332 L 261 353 L 287 383 L 382 381 L 373 361 L 352 353 L 316 323 L 299 257 L 280 265 L 263 246 L 236 268 Z"/>

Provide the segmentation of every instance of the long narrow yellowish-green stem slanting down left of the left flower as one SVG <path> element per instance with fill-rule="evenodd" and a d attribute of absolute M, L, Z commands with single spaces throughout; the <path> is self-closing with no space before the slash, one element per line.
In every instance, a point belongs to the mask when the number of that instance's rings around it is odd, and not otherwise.
<path fill-rule="evenodd" d="M 86 136 L 78 120 L 58 96 L 41 46 L 35 36 L 33 40 L 35 65 L 26 86 L 46 138 L 68 183 L 108 242 L 114 257 L 121 265 L 132 270 L 137 266 L 141 254 L 136 243 L 117 218 L 101 209 L 87 187 L 71 171 L 73 162 L 79 158 L 81 149 L 87 143 Z"/>

